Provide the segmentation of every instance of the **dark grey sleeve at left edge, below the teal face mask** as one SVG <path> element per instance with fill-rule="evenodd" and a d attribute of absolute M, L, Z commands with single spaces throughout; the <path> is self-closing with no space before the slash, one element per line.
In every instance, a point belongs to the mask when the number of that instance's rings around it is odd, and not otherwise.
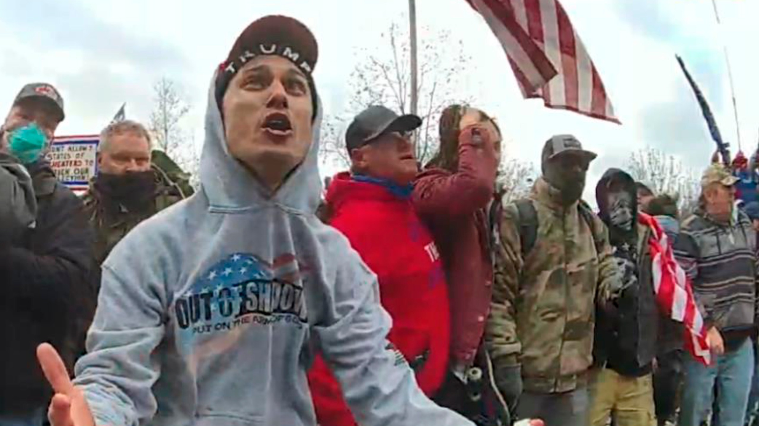
<path fill-rule="evenodd" d="M 32 178 L 16 158 L 0 152 L 0 247 L 7 246 L 37 215 Z"/>

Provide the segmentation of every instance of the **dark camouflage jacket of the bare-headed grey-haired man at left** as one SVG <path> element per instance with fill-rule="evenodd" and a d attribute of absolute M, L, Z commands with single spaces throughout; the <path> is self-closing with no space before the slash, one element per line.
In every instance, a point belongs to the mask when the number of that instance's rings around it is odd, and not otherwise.
<path fill-rule="evenodd" d="M 128 211 L 125 208 L 106 209 L 93 182 L 83 196 L 84 211 L 95 230 L 95 249 L 93 254 L 97 265 L 102 264 L 111 250 L 122 238 L 141 221 L 150 218 L 169 205 L 191 196 L 184 183 L 177 183 L 165 171 L 165 168 L 152 166 L 156 175 L 156 194 L 153 205 L 143 211 Z M 189 189 L 191 191 L 191 188 Z"/>

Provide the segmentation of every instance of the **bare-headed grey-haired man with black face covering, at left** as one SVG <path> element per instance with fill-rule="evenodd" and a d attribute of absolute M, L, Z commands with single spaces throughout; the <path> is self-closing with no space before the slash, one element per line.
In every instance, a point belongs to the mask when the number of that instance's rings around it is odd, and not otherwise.
<path fill-rule="evenodd" d="M 150 133 L 135 121 L 109 124 L 100 133 L 98 174 L 83 197 L 95 230 L 97 265 L 137 224 L 192 195 L 155 164 L 152 154 Z"/>

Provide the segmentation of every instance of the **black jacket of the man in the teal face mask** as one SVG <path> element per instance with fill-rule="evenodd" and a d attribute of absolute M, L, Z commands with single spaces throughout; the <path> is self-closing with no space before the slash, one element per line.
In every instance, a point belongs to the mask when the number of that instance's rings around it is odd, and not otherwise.
<path fill-rule="evenodd" d="M 37 363 L 36 346 L 52 343 L 71 368 L 96 299 L 87 280 L 93 232 L 82 202 L 58 183 L 46 161 L 28 171 L 36 223 L 0 246 L 0 414 L 49 404 L 52 390 Z"/>

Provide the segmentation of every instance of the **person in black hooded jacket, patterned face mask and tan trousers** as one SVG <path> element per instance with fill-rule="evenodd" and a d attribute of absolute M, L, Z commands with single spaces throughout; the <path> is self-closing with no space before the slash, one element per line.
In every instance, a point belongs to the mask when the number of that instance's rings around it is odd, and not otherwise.
<path fill-rule="evenodd" d="M 622 293 L 597 309 L 591 385 L 593 426 L 653 423 L 651 373 L 657 355 L 659 308 L 653 290 L 650 230 L 638 223 L 635 180 L 609 169 L 596 186 L 600 218 L 622 279 Z"/>

